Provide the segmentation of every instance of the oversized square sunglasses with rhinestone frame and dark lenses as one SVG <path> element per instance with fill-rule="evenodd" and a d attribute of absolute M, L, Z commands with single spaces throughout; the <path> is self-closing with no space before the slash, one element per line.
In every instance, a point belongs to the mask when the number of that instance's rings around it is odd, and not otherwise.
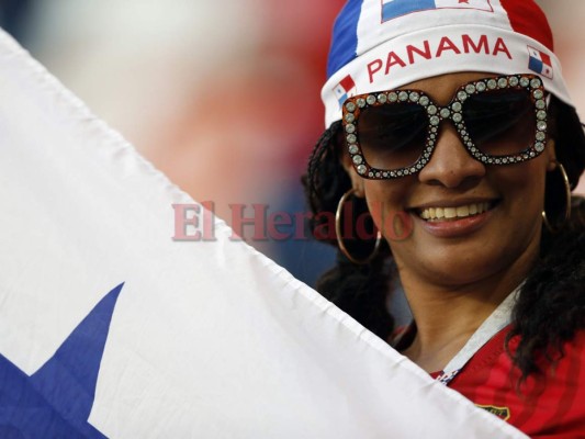
<path fill-rule="evenodd" d="M 491 77 L 459 87 L 445 106 L 420 90 L 359 94 L 344 103 L 342 126 L 356 171 L 368 179 L 418 172 L 450 120 L 468 153 L 486 165 L 530 160 L 547 144 L 547 101 L 533 75 Z"/>

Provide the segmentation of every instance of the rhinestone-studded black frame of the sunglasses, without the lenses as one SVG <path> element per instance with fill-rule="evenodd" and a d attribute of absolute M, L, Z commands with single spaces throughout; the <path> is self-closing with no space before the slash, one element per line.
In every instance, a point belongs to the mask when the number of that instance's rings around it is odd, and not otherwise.
<path fill-rule="evenodd" d="M 514 155 L 491 156 L 475 147 L 473 139 L 470 137 L 468 128 L 465 127 L 462 111 L 464 102 L 470 95 L 503 89 L 526 89 L 530 92 L 531 100 L 535 104 L 535 115 L 537 120 L 535 142 L 531 142 L 528 148 Z M 429 119 L 425 149 L 420 157 L 407 167 L 394 170 L 373 168 L 365 160 L 360 147 L 357 127 L 360 112 L 370 106 L 380 106 L 396 102 L 417 103 L 425 109 Z M 509 75 L 468 82 L 458 88 L 453 99 L 446 106 L 437 105 L 420 90 L 389 90 L 348 98 L 344 102 L 342 111 L 341 122 L 353 167 L 361 177 L 372 180 L 395 179 L 420 171 L 425 165 L 430 161 L 430 157 L 437 143 L 439 125 L 441 121 L 446 119 L 453 122 L 453 125 L 469 154 L 476 160 L 486 165 L 510 165 L 530 160 L 542 153 L 547 145 L 548 114 L 545 92 L 542 86 L 542 80 L 535 75 Z"/>

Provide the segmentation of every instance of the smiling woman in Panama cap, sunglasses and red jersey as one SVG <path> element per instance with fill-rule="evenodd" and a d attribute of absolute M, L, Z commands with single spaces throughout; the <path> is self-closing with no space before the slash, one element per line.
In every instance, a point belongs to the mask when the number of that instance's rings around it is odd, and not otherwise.
<path fill-rule="evenodd" d="M 317 289 L 526 434 L 585 436 L 585 136 L 543 13 L 350 0 L 328 70 L 305 185 L 339 256 Z"/>

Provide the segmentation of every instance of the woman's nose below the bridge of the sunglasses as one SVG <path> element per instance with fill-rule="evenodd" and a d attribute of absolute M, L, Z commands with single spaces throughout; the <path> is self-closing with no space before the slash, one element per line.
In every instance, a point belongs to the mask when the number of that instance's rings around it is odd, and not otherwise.
<path fill-rule="evenodd" d="M 430 161 L 418 175 L 419 181 L 457 188 L 483 176 L 485 165 L 471 157 L 453 125 L 443 123 Z"/>

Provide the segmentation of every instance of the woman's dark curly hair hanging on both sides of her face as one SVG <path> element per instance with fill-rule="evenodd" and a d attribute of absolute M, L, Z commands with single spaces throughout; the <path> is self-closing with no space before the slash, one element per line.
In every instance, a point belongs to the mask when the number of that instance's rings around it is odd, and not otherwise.
<path fill-rule="evenodd" d="M 563 164 L 574 189 L 585 168 L 585 134 L 575 109 L 554 95 L 549 105 L 551 136 L 555 139 L 556 159 Z M 336 212 L 341 195 L 351 188 L 348 173 L 340 164 L 345 150 L 340 122 L 335 122 L 318 139 L 311 155 L 303 184 L 313 219 L 308 226 L 330 226 L 323 213 Z M 556 172 L 553 172 L 556 173 Z M 561 183 L 562 184 L 562 183 Z M 548 216 L 564 210 L 563 187 L 547 181 Z M 352 200 L 353 218 L 367 214 L 364 200 Z M 329 215 L 330 217 L 330 215 Z M 327 244 L 337 246 L 335 230 L 326 234 Z M 372 252 L 375 239 L 345 239 L 358 258 Z M 562 232 L 542 232 L 540 258 L 525 282 L 513 311 L 513 328 L 507 342 L 519 336 L 513 360 L 522 380 L 540 371 L 540 358 L 554 361 L 562 357 L 562 345 L 585 326 L 585 200 L 573 196 L 572 216 Z M 367 264 L 356 264 L 338 251 L 336 266 L 317 281 L 316 289 L 325 297 L 350 314 L 368 329 L 387 340 L 394 331 L 394 318 L 387 311 L 391 282 L 397 273 L 390 248 L 384 241 L 381 251 Z"/>

